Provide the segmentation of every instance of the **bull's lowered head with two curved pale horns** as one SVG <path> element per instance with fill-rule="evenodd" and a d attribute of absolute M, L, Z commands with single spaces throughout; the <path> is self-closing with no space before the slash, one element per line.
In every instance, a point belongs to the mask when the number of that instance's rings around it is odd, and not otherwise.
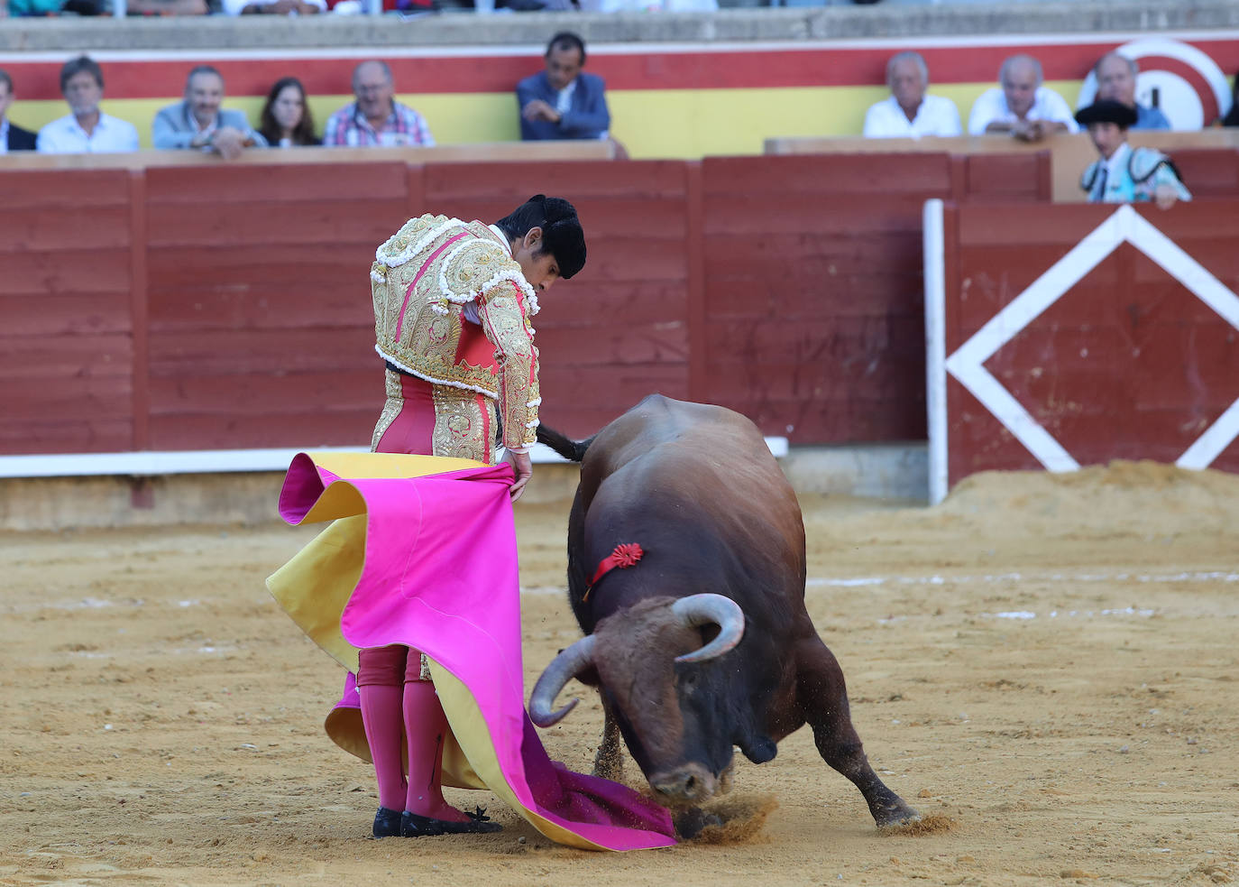
<path fill-rule="evenodd" d="M 729 671 L 738 666 L 720 659 L 743 633 L 743 612 L 721 594 L 643 600 L 600 622 L 546 666 L 529 717 L 539 727 L 556 723 L 576 700 L 555 711 L 555 697 L 592 667 L 650 788 L 669 803 L 705 800 L 730 772 L 743 729 L 727 692 Z"/>

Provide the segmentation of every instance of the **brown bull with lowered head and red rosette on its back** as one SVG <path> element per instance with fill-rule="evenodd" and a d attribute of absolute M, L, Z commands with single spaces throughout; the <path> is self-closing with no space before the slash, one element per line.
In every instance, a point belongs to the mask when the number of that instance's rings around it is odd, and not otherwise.
<path fill-rule="evenodd" d="M 843 670 L 804 607 L 804 524 L 756 426 L 652 394 L 585 442 L 538 439 L 581 463 L 567 527 L 569 602 L 585 636 L 539 677 L 549 727 L 572 677 L 596 685 L 600 775 L 620 734 L 655 796 L 694 808 L 730 788 L 733 749 L 761 764 L 804 723 L 878 826 L 919 819 L 870 765 Z"/>

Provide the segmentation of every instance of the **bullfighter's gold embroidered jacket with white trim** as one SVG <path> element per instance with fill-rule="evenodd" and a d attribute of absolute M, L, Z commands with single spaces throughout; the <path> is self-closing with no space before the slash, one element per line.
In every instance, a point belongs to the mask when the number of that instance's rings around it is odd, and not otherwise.
<path fill-rule="evenodd" d="M 529 323 L 538 298 L 507 242 L 482 222 L 426 215 L 374 258 L 375 351 L 427 382 L 494 399 L 503 445 L 532 444 L 541 403 Z"/>

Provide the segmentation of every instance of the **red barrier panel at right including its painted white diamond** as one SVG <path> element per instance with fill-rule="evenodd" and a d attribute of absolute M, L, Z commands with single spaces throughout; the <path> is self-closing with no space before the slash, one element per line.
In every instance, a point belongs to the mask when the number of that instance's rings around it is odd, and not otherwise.
<path fill-rule="evenodd" d="M 1239 203 L 971 203 L 943 221 L 940 493 L 1119 458 L 1239 470 Z"/>

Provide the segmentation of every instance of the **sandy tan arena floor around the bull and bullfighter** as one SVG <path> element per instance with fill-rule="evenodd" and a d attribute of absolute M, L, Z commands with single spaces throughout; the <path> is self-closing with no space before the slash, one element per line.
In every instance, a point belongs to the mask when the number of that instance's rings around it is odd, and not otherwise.
<path fill-rule="evenodd" d="M 566 510 L 518 509 L 527 686 L 577 636 Z M 307 531 L 7 533 L 0 885 L 1239 880 L 1239 478 L 1118 464 L 804 510 L 809 612 L 870 759 L 949 827 L 880 834 L 803 729 L 738 764 L 752 827 L 726 842 L 569 850 L 463 791 L 506 830 L 367 840 L 369 769 L 321 732 L 341 674 L 263 587 Z M 584 702 L 545 734 L 579 769 Z"/>

